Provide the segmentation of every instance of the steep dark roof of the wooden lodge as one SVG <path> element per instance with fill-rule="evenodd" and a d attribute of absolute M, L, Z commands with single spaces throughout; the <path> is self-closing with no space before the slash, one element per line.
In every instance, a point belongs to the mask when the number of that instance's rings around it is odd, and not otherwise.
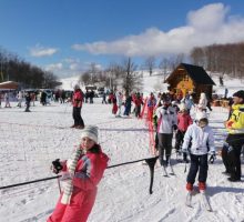
<path fill-rule="evenodd" d="M 171 80 L 174 79 L 174 73 L 176 73 L 180 69 L 184 69 L 187 72 L 189 77 L 193 80 L 193 82 L 197 84 L 215 84 L 202 67 L 186 63 L 179 64 L 177 68 L 165 80 L 165 82 L 171 82 Z"/>

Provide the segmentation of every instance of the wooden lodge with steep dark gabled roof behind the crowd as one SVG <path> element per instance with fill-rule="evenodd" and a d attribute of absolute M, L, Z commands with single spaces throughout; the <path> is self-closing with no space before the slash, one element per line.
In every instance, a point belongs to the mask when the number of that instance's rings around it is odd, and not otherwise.
<path fill-rule="evenodd" d="M 212 99 L 213 85 L 211 77 L 202 67 L 181 63 L 164 81 L 170 84 L 169 90 L 177 95 L 185 97 L 191 92 L 199 100 L 201 92 L 205 92 Z"/>

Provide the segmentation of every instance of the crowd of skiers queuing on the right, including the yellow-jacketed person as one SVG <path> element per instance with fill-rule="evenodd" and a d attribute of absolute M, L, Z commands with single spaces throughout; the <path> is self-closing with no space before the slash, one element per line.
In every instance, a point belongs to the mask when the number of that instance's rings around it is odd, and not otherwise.
<path fill-rule="evenodd" d="M 200 190 L 205 189 L 207 175 L 207 157 L 213 162 L 216 155 L 213 130 L 209 124 L 209 112 L 212 111 L 207 95 L 202 92 L 194 102 L 192 93 L 184 98 L 173 93 L 151 93 L 146 99 L 143 94 L 129 95 L 116 91 L 108 95 L 115 117 L 134 114 L 142 118 L 142 107 L 146 109 L 146 120 L 152 121 L 155 131 L 155 149 L 164 168 L 169 167 L 172 149 L 183 161 L 191 162 L 186 189 L 192 190 L 199 172 Z M 124 112 L 122 114 L 122 105 Z M 231 182 L 241 180 L 241 151 L 244 145 L 244 91 L 237 91 L 230 100 L 230 114 L 225 123 L 228 137 L 222 149 L 223 162 Z M 175 144 L 173 135 L 175 134 Z"/>

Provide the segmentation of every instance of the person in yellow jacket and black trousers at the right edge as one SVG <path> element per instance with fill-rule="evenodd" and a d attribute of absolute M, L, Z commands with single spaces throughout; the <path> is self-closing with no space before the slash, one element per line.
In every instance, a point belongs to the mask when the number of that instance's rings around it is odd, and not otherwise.
<path fill-rule="evenodd" d="M 241 151 L 244 145 L 244 90 L 233 94 L 232 112 L 225 122 L 228 131 L 226 138 L 227 173 L 231 182 L 241 181 Z"/>

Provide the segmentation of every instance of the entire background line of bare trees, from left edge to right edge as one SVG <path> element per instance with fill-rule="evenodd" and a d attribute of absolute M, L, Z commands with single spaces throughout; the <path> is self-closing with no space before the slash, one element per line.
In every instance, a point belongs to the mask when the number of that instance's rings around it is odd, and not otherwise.
<path fill-rule="evenodd" d="M 152 75 L 153 71 L 157 69 L 163 81 L 185 60 L 203 67 L 210 72 L 210 75 L 214 72 L 220 73 L 220 83 L 223 82 L 225 75 L 242 79 L 244 77 L 244 42 L 195 47 L 189 57 L 184 53 L 162 57 L 161 59 L 152 56 L 145 58 L 140 67 L 133 62 L 132 58 L 126 58 L 122 62 L 110 63 L 104 69 L 99 69 L 92 62 L 89 69 L 81 73 L 80 82 L 85 85 L 102 83 L 112 90 L 122 85 L 124 91 L 130 93 L 141 90 L 143 70 Z M 41 68 L 32 65 L 0 48 L 0 81 L 7 80 L 17 81 L 23 88 L 53 89 L 60 84 L 57 75 L 52 72 L 43 71 Z"/>

